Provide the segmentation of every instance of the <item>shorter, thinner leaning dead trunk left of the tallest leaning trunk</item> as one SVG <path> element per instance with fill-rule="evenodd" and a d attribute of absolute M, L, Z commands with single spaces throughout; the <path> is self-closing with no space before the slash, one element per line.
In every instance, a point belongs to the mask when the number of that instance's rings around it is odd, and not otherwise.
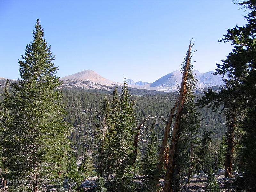
<path fill-rule="evenodd" d="M 169 115 L 169 119 L 167 121 L 165 130 L 164 130 L 164 136 L 163 136 L 163 140 L 162 140 L 162 144 L 161 144 L 161 148 L 159 150 L 159 155 L 158 155 L 158 160 L 159 160 L 159 164 L 158 164 L 158 171 L 161 172 L 162 168 L 163 168 L 163 163 L 164 163 L 164 151 L 165 151 L 165 147 L 169 138 L 169 133 L 170 133 L 170 128 L 171 128 L 171 124 L 172 124 L 172 118 L 175 112 L 175 109 L 177 107 L 177 103 L 178 103 L 178 97 L 175 101 L 175 104 L 173 106 L 173 108 L 171 109 L 170 115 Z M 160 178 L 157 178 L 157 181 L 159 182 Z"/>

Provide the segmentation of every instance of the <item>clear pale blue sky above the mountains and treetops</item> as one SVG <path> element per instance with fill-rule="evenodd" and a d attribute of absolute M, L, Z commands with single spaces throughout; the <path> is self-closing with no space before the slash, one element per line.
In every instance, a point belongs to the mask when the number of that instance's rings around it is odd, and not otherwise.
<path fill-rule="evenodd" d="M 215 70 L 232 50 L 218 40 L 244 15 L 232 0 L 0 0 L 0 77 L 19 78 L 37 18 L 58 76 L 91 69 L 152 83 L 180 70 L 192 38 L 194 69 Z"/>

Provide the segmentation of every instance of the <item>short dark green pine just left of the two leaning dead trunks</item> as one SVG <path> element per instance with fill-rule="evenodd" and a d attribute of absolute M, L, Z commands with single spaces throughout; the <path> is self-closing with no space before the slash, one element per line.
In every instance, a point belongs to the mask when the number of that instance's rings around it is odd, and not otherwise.
<path fill-rule="evenodd" d="M 160 174 L 157 168 L 157 165 L 159 164 L 157 143 L 155 122 L 153 122 L 151 125 L 150 140 L 148 141 L 143 158 L 142 170 L 145 179 L 142 184 L 143 191 L 145 192 L 157 192 L 159 189 L 158 182 L 156 182 L 156 178 L 159 177 Z"/>

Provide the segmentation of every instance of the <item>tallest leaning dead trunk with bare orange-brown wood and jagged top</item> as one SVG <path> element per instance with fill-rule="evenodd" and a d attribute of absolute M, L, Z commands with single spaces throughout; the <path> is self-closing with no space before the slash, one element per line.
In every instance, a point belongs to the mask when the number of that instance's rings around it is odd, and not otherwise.
<path fill-rule="evenodd" d="M 191 59 L 190 55 L 191 55 L 192 47 L 193 45 L 191 45 L 191 41 L 190 41 L 187 56 L 186 56 L 186 61 L 183 69 L 183 76 L 182 76 L 180 94 L 179 94 L 179 102 L 178 102 L 177 112 L 176 112 L 176 119 L 175 119 L 174 127 L 172 130 L 172 141 L 170 146 L 166 175 L 164 179 L 163 192 L 172 192 L 173 173 L 174 173 L 174 167 L 175 167 L 175 161 L 176 161 L 176 155 L 177 155 L 176 153 L 177 143 L 179 141 L 179 135 L 180 135 L 180 123 L 181 123 L 181 117 L 182 117 L 182 110 L 183 110 L 183 104 L 185 101 L 185 95 L 188 91 L 188 89 L 186 89 L 186 83 L 187 83 L 187 76 L 188 76 L 188 70 L 189 70 L 189 63 Z"/>

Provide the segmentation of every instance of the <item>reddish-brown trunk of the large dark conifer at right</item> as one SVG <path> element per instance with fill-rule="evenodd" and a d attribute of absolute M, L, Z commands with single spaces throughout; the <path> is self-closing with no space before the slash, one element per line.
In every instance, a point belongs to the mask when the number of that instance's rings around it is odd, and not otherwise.
<path fill-rule="evenodd" d="M 234 129 L 235 129 L 235 118 L 233 122 L 229 125 L 228 134 L 228 148 L 227 155 L 225 159 L 225 177 L 232 177 L 232 155 L 234 151 Z"/>

